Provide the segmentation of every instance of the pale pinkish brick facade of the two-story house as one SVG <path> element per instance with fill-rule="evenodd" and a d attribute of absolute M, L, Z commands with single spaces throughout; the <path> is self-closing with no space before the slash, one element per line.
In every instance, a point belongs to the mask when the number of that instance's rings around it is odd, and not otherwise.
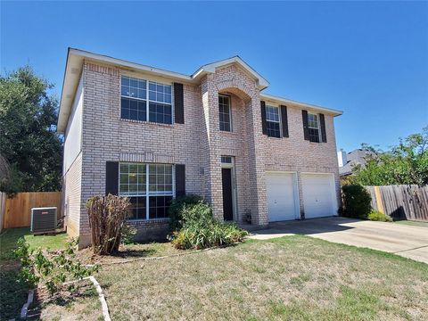
<path fill-rule="evenodd" d="M 339 195 L 333 115 L 325 114 L 328 143 L 303 139 L 301 108 L 291 104 L 287 104 L 289 138 L 263 135 L 259 88 L 240 66 L 218 68 L 198 85 L 185 83 L 185 124 L 163 125 L 120 119 L 120 76 L 150 76 L 98 62 L 83 63 L 82 152 L 76 164 L 81 182 L 74 169 L 65 176 L 65 197 L 79 198 L 79 210 L 69 211 L 68 221 L 69 226 L 78 224 L 81 246 L 90 242 L 85 203 L 105 193 L 106 161 L 185 164 L 186 193 L 202 195 L 212 204 L 214 216 L 222 219 L 220 156 L 234 156 L 238 223 L 244 223 L 245 214 L 251 213 L 252 224 L 268 224 L 267 170 L 296 171 L 298 176 L 301 172 L 333 173 Z M 231 96 L 233 132 L 219 130 L 218 94 Z M 301 194 L 301 185 L 299 190 Z M 76 208 L 76 201 L 73 204 Z M 300 211 L 304 213 L 302 197 Z M 133 224 L 140 238 L 152 239 L 166 231 L 168 219 Z"/>

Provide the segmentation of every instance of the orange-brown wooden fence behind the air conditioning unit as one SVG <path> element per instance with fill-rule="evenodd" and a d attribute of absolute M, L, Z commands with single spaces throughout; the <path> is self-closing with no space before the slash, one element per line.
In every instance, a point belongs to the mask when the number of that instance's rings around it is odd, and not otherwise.
<path fill-rule="evenodd" d="M 3 227 L 30 226 L 31 209 L 38 207 L 56 207 L 60 218 L 61 192 L 16 193 L 13 198 L 6 198 Z"/>

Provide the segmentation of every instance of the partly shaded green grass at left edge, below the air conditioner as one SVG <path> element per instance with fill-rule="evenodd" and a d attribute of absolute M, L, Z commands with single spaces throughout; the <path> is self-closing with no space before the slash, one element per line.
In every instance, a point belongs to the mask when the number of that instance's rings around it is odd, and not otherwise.
<path fill-rule="evenodd" d="M 31 248 L 58 250 L 64 247 L 66 235 L 31 235 L 29 228 L 5 229 L 0 235 L 0 320 L 19 317 L 29 287 L 19 280 L 20 263 L 13 257 L 18 240 L 23 237 Z"/>

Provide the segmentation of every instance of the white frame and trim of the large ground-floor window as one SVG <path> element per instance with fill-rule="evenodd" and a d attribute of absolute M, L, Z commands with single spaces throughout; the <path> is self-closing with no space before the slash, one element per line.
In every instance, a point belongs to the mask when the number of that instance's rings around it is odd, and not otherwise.
<path fill-rule="evenodd" d="M 128 194 L 120 194 L 120 164 L 137 164 L 137 165 L 145 165 L 145 193 L 139 193 L 136 195 L 128 195 Z M 169 218 L 150 218 L 150 202 L 149 197 L 151 196 L 172 196 L 172 199 L 176 198 L 176 166 L 174 164 L 164 164 L 164 165 L 171 165 L 172 166 L 172 194 L 170 193 L 161 193 L 161 194 L 150 194 L 149 193 L 149 165 L 162 165 L 162 163 L 139 163 L 139 162 L 132 162 L 132 161 L 122 161 L 119 162 L 119 177 L 118 177 L 118 184 L 119 184 L 119 196 L 125 196 L 125 197 L 145 197 L 145 218 L 136 218 L 136 219 L 128 219 L 129 222 L 139 222 L 139 221 L 153 221 L 153 220 L 160 220 L 160 219 L 169 219 Z"/>

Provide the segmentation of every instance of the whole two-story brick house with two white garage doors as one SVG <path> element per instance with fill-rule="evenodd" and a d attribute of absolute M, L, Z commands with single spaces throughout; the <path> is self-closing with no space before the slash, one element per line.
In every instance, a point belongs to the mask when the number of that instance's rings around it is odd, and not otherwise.
<path fill-rule="evenodd" d="M 238 224 L 335 215 L 342 111 L 263 94 L 268 85 L 238 56 L 187 76 L 69 49 L 58 132 L 70 235 L 90 243 L 86 200 L 105 193 L 130 197 L 139 239 L 165 235 L 169 202 L 184 194 Z"/>

